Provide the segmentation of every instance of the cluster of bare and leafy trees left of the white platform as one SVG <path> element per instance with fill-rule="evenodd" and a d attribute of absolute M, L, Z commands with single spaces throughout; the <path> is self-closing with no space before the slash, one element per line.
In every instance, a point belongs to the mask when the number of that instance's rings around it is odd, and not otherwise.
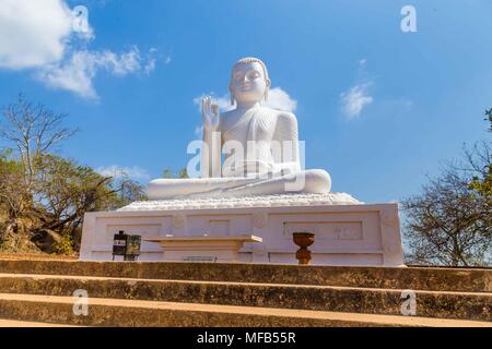
<path fill-rule="evenodd" d="M 128 176 L 103 177 L 91 167 L 54 153 L 74 131 L 65 116 L 20 96 L 3 109 L 0 137 L 0 249 L 26 237 L 25 245 L 50 253 L 79 249 L 86 212 L 112 210 L 143 200 L 143 188 Z"/>

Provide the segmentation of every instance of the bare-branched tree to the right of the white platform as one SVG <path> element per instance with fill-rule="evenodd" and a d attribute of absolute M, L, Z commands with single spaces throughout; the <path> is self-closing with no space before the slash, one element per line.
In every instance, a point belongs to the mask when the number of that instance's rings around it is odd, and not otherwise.
<path fill-rule="evenodd" d="M 492 109 L 485 112 L 492 125 Z M 487 120 L 487 119 L 485 119 Z M 410 263 L 450 266 L 492 263 L 492 157 L 483 141 L 448 163 L 420 195 L 403 202 Z"/>

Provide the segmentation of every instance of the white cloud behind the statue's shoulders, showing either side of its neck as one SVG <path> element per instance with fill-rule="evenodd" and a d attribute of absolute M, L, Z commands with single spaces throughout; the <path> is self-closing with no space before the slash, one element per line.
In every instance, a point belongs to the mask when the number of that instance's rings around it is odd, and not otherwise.
<path fill-rule="evenodd" d="M 201 99 L 206 97 L 206 94 L 202 94 L 199 97 L 194 98 L 194 104 L 198 106 L 198 109 L 201 111 Z M 214 93 L 210 93 L 212 97 L 212 103 L 219 106 L 221 111 L 229 111 L 234 109 L 234 106 L 231 105 L 231 97 L 229 94 L 216 97 Z M 295 111 L 297 108 L 297 100 L 293 99 L 289 94 L 280 87 L 270 88 L 268 93 L 268 100 L 266 106 L 279 110 L 285 111 Z"/>

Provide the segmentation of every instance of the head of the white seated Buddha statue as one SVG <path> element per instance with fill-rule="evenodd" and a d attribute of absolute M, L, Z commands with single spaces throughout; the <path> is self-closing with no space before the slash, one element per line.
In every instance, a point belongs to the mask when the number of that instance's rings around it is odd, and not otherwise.
<path fill-rule="evenodd" d="M 265 101 L 268 99 L 270 85 L 267 67 L 261 60 L 253 57 L 242 58 L 234 64 L 231 74 L 231 104 Z"/>

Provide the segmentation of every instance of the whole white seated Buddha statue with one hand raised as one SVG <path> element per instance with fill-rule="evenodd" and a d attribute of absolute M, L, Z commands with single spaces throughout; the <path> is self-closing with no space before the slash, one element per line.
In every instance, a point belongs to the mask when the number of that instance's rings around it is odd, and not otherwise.
<path fill-rule="evenodd" d="M 149 198 L 328 193 L 328 172 L 301 168 L 295 116 L 265 106 L 270 86 L 261 60 L 237 61 L 229 86 L 236 108 L 221 113 L 211 97 L 201 103 L 201 178 L 153 180 L 147 188 Z"/>

